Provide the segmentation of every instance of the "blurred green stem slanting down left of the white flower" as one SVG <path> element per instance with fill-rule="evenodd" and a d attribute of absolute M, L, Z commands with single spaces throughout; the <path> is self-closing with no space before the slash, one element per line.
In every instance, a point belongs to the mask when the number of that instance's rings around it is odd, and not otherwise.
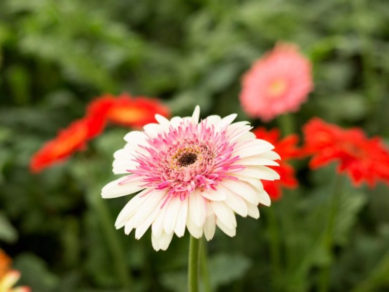
<path fill-rule="evenodd" d="M 95 212 L 96 217 L 99 218 L 101 229 L 105 235 L 105 240 L 108 243 L 108 248 L 110 249 L 113 257 L 113 264 L 115 266 L 116 273 L 118 273 L 123 288 L 126 291 L 132 291 L 132 279 L 125 262 L 125 252 L 118 235 L 116 234 L 109 210 L 103 202 L 103 199 L 99 196 L 100 189 L 96 189 L 97 185 L 98 184 L 88 187 L 87 202 L 89 207 L 91 207 L 91 209 Z"/>

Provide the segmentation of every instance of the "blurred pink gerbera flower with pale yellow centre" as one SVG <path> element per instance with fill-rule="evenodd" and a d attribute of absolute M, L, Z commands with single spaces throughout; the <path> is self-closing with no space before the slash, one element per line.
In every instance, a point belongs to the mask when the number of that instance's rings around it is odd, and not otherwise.
<path fill-rule="evenodd" d="M 296 112 L 313 89 L 311 64 L 292 44 L 278 44 L 244 75 L 240 95 L 244 111 L 269 121 Z"/>

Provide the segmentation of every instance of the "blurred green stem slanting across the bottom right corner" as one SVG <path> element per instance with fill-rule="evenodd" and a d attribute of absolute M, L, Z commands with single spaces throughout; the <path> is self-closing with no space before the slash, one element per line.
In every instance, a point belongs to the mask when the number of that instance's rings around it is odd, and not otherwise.
<path fill-rule="evenodd" d="M 389 283 L 389 250 L 383 255 L 369 276 L 362 281 L 352 292 L 370 292 L 379 289 L 379 286 Z"/>

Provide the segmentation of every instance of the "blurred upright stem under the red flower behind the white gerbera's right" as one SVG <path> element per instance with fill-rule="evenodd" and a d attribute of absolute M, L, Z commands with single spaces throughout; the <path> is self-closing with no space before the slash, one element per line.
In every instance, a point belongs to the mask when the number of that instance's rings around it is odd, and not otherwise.
<path fill-rule="evenodd" d="M 270 249 L 270 263 L 271 263 L 271 272 L 273 276 L 272 291 L 279 290 L 279 282 L 281 279 L 281 257 L 280 257 L 280 228 L 277 222 L 277 214 L 275 211 L 275 206 L 269 207 L 267 212 L 267 228 L 269 230 L 269 249 Z"/>

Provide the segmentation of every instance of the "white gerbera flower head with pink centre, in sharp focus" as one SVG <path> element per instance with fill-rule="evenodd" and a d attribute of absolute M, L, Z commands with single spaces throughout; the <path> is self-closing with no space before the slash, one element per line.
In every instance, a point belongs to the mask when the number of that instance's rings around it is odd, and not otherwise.
<path fill-rule="evenodd" d="M 191 117 L 132 131 L 125 147 L 114 154 L 113 172 L 126 174 L 102 189 L 103 198 L 139 192 L 120 212 L 116 228 L 139 239 L 151 226 L 155 250 L 166 250 L 175 233 L 212 239 L 218 226 L 235 236 L 235 213 L 258 218 L 258 204 L 270 205 L 261 179 L 279 175 L 266 165 L 278 165 L 273 145 L 256 139 L 248 122 L 232 123 L 209 116 L 199 122 L 200 107 Z"/>

